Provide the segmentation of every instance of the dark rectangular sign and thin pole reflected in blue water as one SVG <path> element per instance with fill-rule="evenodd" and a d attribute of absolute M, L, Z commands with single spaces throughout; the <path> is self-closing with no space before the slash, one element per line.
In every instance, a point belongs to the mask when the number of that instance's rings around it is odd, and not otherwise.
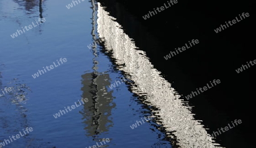
<path fill-rule="evenodd" d="M 97 6 L 95 1 L 92 3 L 92 38 L 96 41 L 96 12 Z M 100 139 L 99 135 L 108 132 L 113 126 L 113 121 L 110 120 L 112 109 L 115 108 L 113 103 L 112 92 L 108 92 L 106 87 L 110 85 L 109 74 L 98 73 L 98 54 L 96 42 L 93 42 L 93 72 L 85 73 L 82 77 L 82 98 L 88 98 L 88 102 L 84 104 L 82 112 L 83 122 L 85 123 L 86 136 L 93 137 L 94 140 Z"/>

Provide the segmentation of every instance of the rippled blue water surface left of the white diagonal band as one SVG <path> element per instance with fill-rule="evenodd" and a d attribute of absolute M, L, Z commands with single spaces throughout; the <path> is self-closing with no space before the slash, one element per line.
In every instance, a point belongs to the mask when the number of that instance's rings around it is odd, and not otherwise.
<path fill-rule="evenodd" d="M 0 142 L 32 127 L 27 136 L 5 147 L 89 147 L 102 138 L 104 147 L 171 147 L 154 121 L 130 125 L 151 115 L 110 58 L 87 46 L 93 43 L 92 3 L 81 1 L 0 2 L 0 88 L 14 90 L 0 97 Z M 17 29 L 44 18 L 40 26 L 18 35 Z M 37 78 L 32 74 L 60 58 L 67 62 Z M 1 92 L 0 92 L 1 93 Z M 53 115 L 81 98 L 84 105 L 55 119 Z"/>

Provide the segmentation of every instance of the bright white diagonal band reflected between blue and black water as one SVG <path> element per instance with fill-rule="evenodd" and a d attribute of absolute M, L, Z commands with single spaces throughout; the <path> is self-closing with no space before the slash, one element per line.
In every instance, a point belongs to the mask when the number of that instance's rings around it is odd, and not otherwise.
<path fill-rule="evenodd" d="M 98 33 L 100 38 L 105 39 L 106 49 L 113 51 L 117 64 L 125 64 L 120 70 L 130 73 L 129 79 L 137 85 L 132 86 L 131 90 L 136 94 L 147 94 L 149 105 L 160 109 L 157 115 L 161 117 L 162 125 L 167 131 L 176 131 L 174 134 L 181 147 L 217 147 L 203 125 L 193 118 L 188 107 L 182 105 L 181 99 L 177 99 L 180 96 L 175 95 L 171 84 L 154 69 L 146 53 L 135 46 L 122 27 L 108 14 L 98 3 Z"/>

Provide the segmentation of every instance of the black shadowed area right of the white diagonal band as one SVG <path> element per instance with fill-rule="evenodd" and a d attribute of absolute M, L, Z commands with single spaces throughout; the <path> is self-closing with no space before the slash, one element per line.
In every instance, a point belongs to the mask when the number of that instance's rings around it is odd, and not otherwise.
<path fill-rule="evenodd" d="M 196 88 L 220 79 L 219 86 L 189 100 L 195 119 L 202 120 L 209 134 L 241 119 L 242 124 L 220 134 L 216 141 L 224 147 L 255 147 L 255 67 L 240 74 L 235 71 L 255 60 L 250 37 L 255 34 L 253 1 L 179 1 L 147 20 L 142 16 L 166 1 L 137 5 L 136 1 L 101 2 L 183 99 Z M 251 15 L 221 33 L 214 32 L 242 12 Z M 198 46 L 169 60 L 163 58 L 192 39 L 199 39 Z"/>

